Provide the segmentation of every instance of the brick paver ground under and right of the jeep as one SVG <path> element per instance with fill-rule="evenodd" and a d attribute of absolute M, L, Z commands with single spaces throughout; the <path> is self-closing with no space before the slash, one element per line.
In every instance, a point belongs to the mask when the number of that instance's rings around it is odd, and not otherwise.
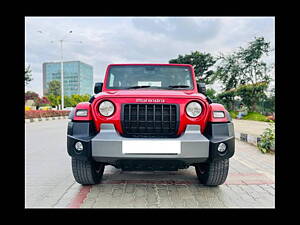
<path fill-rule="evenodd" d="M 225 184 L 199 184 L 194 167 L 176 172 L 123 172 L 107 166 L 81 208 L 274 208 L 275 159 L 236 141 Z"/>

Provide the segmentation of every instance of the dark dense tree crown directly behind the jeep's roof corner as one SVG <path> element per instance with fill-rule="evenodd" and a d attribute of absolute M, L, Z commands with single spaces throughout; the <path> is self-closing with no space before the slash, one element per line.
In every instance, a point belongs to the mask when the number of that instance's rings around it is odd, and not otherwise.
<path fill-rule="evenodd" d="M 169 63 L 191 64 L 194 66 L 196 80 L 204 81 L 206 84 L 213 82 L 213 70 L 209 70 L 216 63 L 216 59 L 210 53 L 191 52 L 189 55 L 178 55 L 178 58 L 169 60 Z"/>

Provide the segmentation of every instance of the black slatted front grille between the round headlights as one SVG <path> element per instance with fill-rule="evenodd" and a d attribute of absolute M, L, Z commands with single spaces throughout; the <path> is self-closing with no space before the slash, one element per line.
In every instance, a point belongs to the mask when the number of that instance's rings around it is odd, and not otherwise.
<path fill-rule="evenodd" d="M 175 104 L 124 104 L 122 128 L 126 137 L 174 137 L 179 125 Z"/>

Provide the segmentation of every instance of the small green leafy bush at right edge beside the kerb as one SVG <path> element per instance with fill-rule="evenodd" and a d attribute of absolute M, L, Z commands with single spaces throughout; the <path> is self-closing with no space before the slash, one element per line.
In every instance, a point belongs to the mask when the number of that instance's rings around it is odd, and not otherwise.
<path fill-rule="evenodd" d="M 260 136 L 260 141 L 257 147 L 263 153 L 269 152 L 271 149 L 275 150 L 275 123 L 270 123 L 264 133 Z"/>

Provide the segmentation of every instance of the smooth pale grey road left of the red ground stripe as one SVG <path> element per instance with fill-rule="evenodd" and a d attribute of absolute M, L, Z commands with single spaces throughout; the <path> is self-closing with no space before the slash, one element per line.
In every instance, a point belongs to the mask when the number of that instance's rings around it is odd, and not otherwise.
<path fill-rule="evenodd" d="M 66 152 L 68 120 L 25 124 L 25 207 L 64 207 L 80 189 Z"/>

